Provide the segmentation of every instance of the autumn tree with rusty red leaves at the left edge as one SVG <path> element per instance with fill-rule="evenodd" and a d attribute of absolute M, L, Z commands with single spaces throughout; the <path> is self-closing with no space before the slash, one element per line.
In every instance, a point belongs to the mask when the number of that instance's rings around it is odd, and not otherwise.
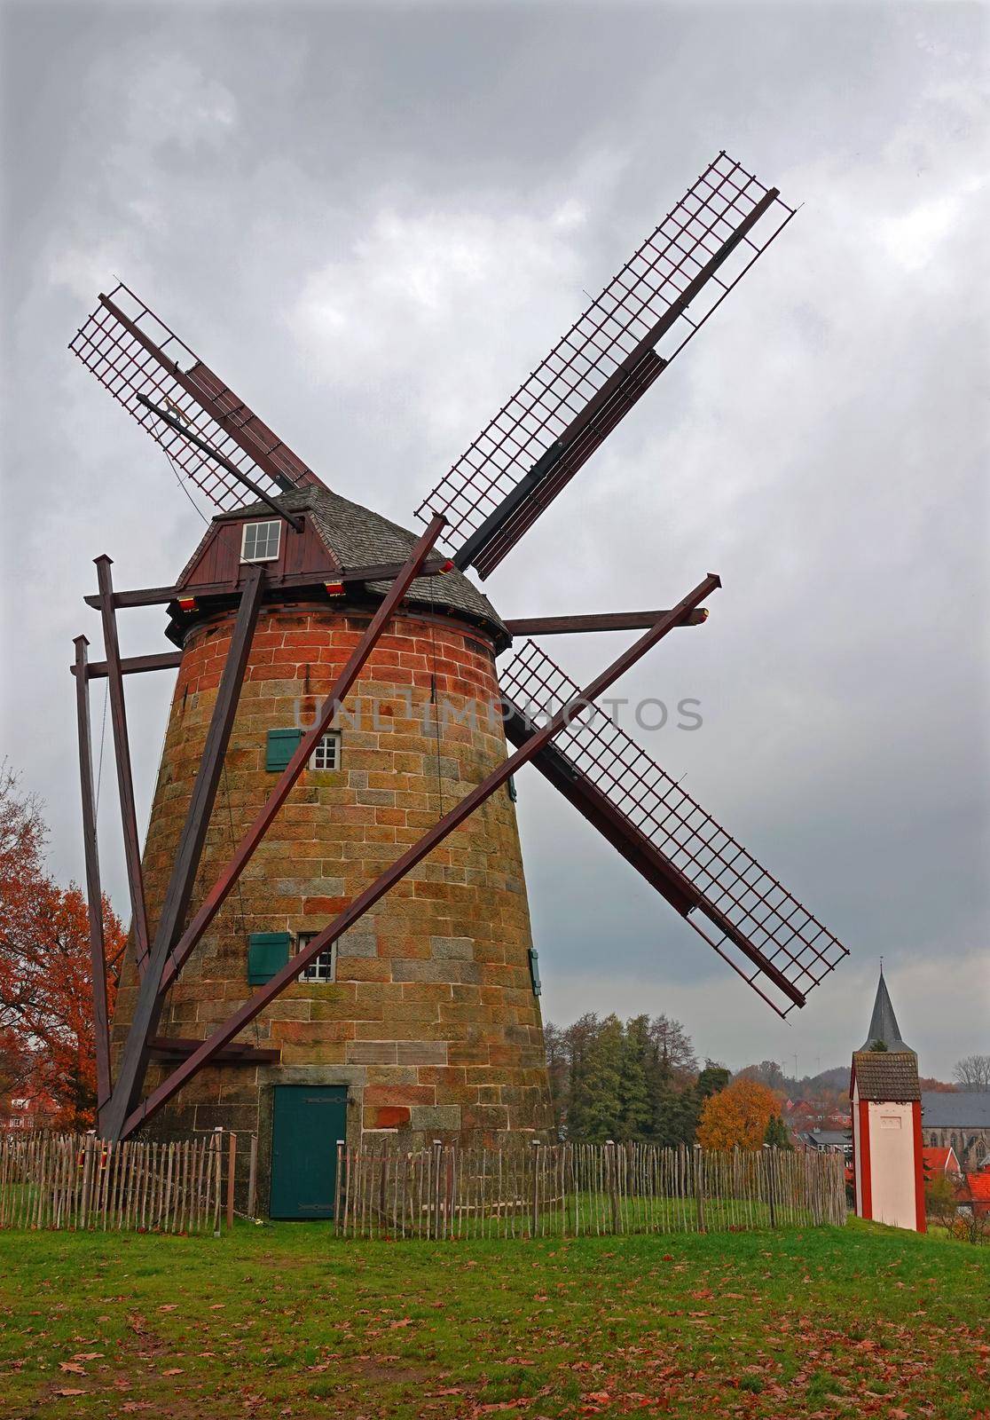
<path fill-rule="evenodd" d="M 92 1123 L 96 1061 L 87 902 L 45 872 L 41 807 L 0 770 L 0 1076 L 54 1100 L 55 1123 Z M 104 899 L 108 997 L 113 1005 L 125 932 Z"/>

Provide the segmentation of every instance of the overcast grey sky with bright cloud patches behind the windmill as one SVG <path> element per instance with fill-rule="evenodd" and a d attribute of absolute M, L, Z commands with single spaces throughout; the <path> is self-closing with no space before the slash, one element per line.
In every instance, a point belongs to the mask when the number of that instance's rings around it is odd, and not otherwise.
<path fill-rule="evenodd" d="M 721 572 L 616 693 L 701 701 L 638 738 L 852 957 L 779 1022 L 528 770 L 545 1014 L 667 1011 L 702 1054 L 814 1072 L 861 1044 L 882 954 L 922 1074 L 990 1049 L 987 10 L 34 3 L 3 30 L 3 751 L 60 879 L 92 558 L 169 584 L 203 525 L 65 349 L 96 294 L 123 277 L 411 525 L 725 148 L 800 213 L 485 589 L 638 609 Z M 163 623 L 129 612 L 125 655 Z M 621 643 L 546 645 L 580 677 Z M 170 689 L 128 682 L 142 825 Z M 126 912 L 109 726 L 105 754 Z"/>

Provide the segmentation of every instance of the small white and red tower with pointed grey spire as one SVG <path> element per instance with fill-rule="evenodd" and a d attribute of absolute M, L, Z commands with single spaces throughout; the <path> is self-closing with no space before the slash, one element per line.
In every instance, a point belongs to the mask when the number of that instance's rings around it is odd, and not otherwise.
<path fill-rule="evenodd" d="M 869 1035 L 852 1055 L 850 1099 L 857 1216 L 925 1233 L 918 1055 L 901 1039 L 882 967 Z"/>

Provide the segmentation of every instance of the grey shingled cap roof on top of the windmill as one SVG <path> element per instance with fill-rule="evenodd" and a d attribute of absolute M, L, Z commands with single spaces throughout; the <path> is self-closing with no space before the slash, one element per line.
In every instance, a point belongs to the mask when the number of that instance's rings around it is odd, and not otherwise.
<path fill-rule="evenodd" d="M 379 562 L 404 562 L 421 535 L 400 527 L 399 523 L 391 523 L 360 503 L 340 497 L 330 488 L 295 488 L 278 494 L 274 501 L 285 513 L 308 513 L 325 547 L 345 571 Z M 267 503 L 251 503 L 221 513 L 213 521 L 231 523 L 244 517 L 264 517 L 265 513 L 271 514 Z M 389 582 L 367 584 L 372 592 L 383 596 L 389 585 Z M 427 609 L 460 612 L 494 633 L 499 649 L 509 642 L 509 633 L 492 604 L 457 569 L 443 577 L 417 577 L 406 599 Z"/>

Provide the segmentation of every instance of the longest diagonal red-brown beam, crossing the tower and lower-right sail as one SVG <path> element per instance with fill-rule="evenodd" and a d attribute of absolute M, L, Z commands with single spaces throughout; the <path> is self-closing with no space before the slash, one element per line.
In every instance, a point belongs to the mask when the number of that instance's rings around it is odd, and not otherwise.
<path fill-rule="evenodd" d="M 433 524 L 431 524 L 433 525 Z M 657 645 L 669 630 L 672 630 L 681 616 L 698 606 L 705 596 L 721 586 L 721 581 L 715 574 L 709 572 L 703 582 L 701 582 L 692 592 L 689 592 L 682 602 L 679 602 L 667 616 L 661 618 L 655 626 L 652 626 L 645 636 L 641 636 L 633 646 L 623 652 L 617 660 L 603 670 L 594 680 L 582 692 L 574 696 L 566 706 L 562 706 L 557 713 L 547 720 L 547 723 L 538 730 L 535 734 L 526 740 L 526 743 L 511 754 L 498 768 L 492 770 L 477 788 L 474 788 L 461 802 L 445 814 L 434 826 L 423 835 L 423 838 L 408 848 L 396 862 L 387 868 L 380 878 L 376 878 L 370 886 L 367 886 L 357 897 L 346 907 L 329 927 L 318 933 L 311 943 L 308 943 L 302 951 L 298 951 L 291 961 L 288 961 L 281 971 L 265 985 L 260 987 L 255 994 L 244 1003 L 233 1015 L 213 1032 L 203 1044 L 194 1051 L 187 1061 L 174 1069 L 162 1083 L 155 1089 L 146 1100 L 143 1100 L 133 1113 L 125 1120 L 122 1136 L 126 1139 L 129 1135 L 139 1129 L 146 1120 L 152 1119 L 160 1109 L 167 1105 L 167 1102 L 182 1089 L 187 1079 L 208 1065 L 217 1051 L 224 1049 L 233 1038 L 243 1031 L 245 1025 L 264 1011 L 264 1008 L 275 1000 L 277 995 L 291 985 L 299 973 L 313 961 L 321 951 L 338 940 L 349 927 L 355 924 L 363 914 L 374 906 L 384 895 L 394 888 L 417 863 L 420 863 L 428 853 L 437 848 L 450 834 L 454 832 L 467 818 L 474 814 L 481 804 L 485 802 L 498 788 L 501 788 L 505 781 L 515 774 L 523 764 L 533 758 L 535 754 L 550 741 L 550 738 L 562 730 L 564 726 L 594 703 L 594 700 L 601 696 L 608 686 L 611 686 L 618 677 L 628 670 L 630 666 L 635 665 L 652 646 Z"/>

